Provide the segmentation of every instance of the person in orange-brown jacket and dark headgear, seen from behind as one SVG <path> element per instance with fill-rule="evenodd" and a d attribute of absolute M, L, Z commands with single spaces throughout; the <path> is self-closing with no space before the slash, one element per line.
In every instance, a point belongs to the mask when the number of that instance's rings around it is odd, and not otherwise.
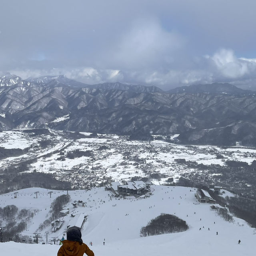
<path fill-rule="evenodd" d="M 94 256 L 94 252 L 83 243 L 82 234 L 79 228 L 72 227 L 67 231 L 67 240 L 62 241 L 62 246 L 58 250 L 57 256 Z"/>

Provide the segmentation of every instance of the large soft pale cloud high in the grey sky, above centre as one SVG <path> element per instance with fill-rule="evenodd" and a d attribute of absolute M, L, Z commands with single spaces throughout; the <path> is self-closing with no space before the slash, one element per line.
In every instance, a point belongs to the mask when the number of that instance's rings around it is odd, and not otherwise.
<path fill-rule="evenodd" d="M 161 66 L 173 62 L 186 40 L 175 31 L 165 30 L 159 20 L 138 19 L 110 48 L 111 61 L 126 69 Z"/>

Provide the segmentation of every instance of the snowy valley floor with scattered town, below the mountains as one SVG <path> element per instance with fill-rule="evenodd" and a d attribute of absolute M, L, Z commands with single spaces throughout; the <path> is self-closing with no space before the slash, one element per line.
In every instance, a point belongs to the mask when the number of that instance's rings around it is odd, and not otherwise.
<path fill-rule="evenodd" d="M 90 133 L 81 132 L 88 136 Z M 175 137 L 176 135 L 174 135 Z M 40 147 L 40 141 L 51 140 L 47 148 Z M 98 138 L 68 138 L 68 133 L 50 130 L 50 134 L 31 136 L 18 130 L 0 133 L 0 145 L 4 148 L 29 148 L 20 156 L 10 156 L 0 160 L 0 168 L 7 168 L 24 160 L 34 158 L 28 172 L 54 173 L 57 179 L 72 183 L 73 187 L 86 188 L 91 180 L 96 185 L 112 180 L 130 180 L 134 176 L 148 177 L 158 173 L 163 178 L 152 180 L 154 184 L 164 184 L 168 178 L 177 181 L 182 174 L 195 173 L 176 161 L 184 159 L 196 164 L 218 164 L 224 166 L 227 160 L 243 161 L 251 164 L 256 159 L 256 149 L 240 147 L 221 148 L 217 146 L 177 145 L 164 140 L 130 141 L 127 136 L 101 134 Z M 68 158 L 74 150 L 90 150 L 92 156 Z M 60 151 L 62 155 L 60 155 Z M 218 158 L 221 155 L 222 158 Z M 60 158 L 60 156 L 62 156 Z M 207 172 L 207 169 L 204 171 Z M 218 175 L 210 174 L 212 176 Z M 81 187 L 76 183 L 79 177 Z"/>

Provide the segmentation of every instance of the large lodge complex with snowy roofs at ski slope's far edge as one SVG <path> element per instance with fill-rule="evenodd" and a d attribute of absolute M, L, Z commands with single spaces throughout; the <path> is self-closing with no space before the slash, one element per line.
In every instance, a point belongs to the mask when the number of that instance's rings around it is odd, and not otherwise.
<path fill-rule="evenodd" d="M 128 181 L 124 185 L 120 182 L 111 182 L 105 186 L 105 189 L 112 191 L 116 196 L 141 196 L 150 192 L 150 184 L 141 180 Z"/>

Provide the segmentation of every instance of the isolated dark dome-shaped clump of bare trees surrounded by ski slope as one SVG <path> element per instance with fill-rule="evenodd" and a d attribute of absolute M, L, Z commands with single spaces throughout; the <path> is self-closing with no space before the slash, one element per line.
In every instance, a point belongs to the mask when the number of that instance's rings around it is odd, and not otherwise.
<path fill-rule="evenodd" d="M 140 230 L 141 236 L 155 236 L 160 234 L 169 234 L 183 232 L 188 230 L 185 220 L 172 214 L 162 213 L 160 216 L 150 220 L 147 226 Z"/>

